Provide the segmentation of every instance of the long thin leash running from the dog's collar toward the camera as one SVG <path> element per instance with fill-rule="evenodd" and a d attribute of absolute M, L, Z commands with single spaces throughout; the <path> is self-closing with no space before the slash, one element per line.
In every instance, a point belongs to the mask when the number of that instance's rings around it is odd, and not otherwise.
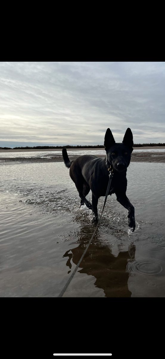
<path fill-rule="evenodd" d="M 79 268 L 79 265 L 80 265 L 82 259 L 84 258 L 85 253 L 86 253 L 87 249 L 89 248 L 89 246 L 90 246 L 90 244 L 91 244 L 91 241 L 92 241 L 92 239 L 93 239 L 93 237 L 94 237 L 94 235 L 95 235 L 95 233 L 96 233 L 97 227 L 98 227 L 98 225 L 99 225 L 99 223 L 100 223 L 100 219 L 101 219 L 102 213 L 103 213 L 103 211 L 104 211 L 104 207 L 105 207 L 105 204 L 106 204 L 107 196 L 108 196 L 108 194 L 109 194 L 109 190 L 110 190 L 110 186 L 111 186 L 111 181 L 112 181 L 112 177 L 113 177 L 113 174 L 112 174 L 113 168 L 112 168 L 112 171 L 111 171 L 111 167 L 108 168 L 108 171 L 109 171 L 109 182 L 108 182 L 108 186 L 107 186 L 107 190 L 106 190 L 106 195 L 105 195 L 105 201 L 104 201 L 104 205 L 103 205 L 103 208 L 102 208 L 102 212 L 101 212 L 99 221 L 98 221 L 98 223 L 97 223 L 97 225 L 96 225 L 96 228 L 95 228 L 95 230 L 94 230 L 94 233 L 92 234 L 92 237 L 91 237 L 89 243 L 87 244 L 87 246 L 86 246 L 86 248 L 85 248 L 84 253 L 82 254 L 82 256 L 81 256 L 79 262 L 78 262 L 77 265 L 76 265 L 76 268 L 75 268 L 74 271 L 72 272 L 70 278 L 68 279 L 68 281 L 67 281 L 66 284 L 64 285 L 64 288 L 61 290 L 61 292 L 60 292 L 60 294 L 58 295 L 58 297 L 62 297 L 62 295 L 65 293 L 65 290 L 66 290 L 66 288 L 68 287 L 69 283 L 71 282 L 73 276 L 75 275 L 76 270 Z"/>

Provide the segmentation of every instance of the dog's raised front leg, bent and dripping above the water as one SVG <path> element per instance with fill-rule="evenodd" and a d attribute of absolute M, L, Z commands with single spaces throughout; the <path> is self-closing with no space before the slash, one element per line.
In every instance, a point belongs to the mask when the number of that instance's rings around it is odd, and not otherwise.
<path fill-rule="evenodd" d="M 132 232 L 135 230 L 135 209 L 131 204 L 126 194 L 116 193 L 117 201 L 121 203 L 128 210 L 128 225 L 132 228 Z"/>

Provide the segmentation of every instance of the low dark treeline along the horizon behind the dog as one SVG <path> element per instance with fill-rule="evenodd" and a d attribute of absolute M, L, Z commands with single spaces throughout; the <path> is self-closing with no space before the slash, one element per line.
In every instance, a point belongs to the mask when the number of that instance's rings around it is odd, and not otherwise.
<path fill-rule="evenodd" d="M 134 144 L 134 147 L 144 147 L 144 146 L 150 146 L 150 147 L 154 147 L 154 146 L 165 146 L 165 143 L 136 143 Z M 55 149 L 62 149 L 62 148 L 104 148 L 104 145 L 84 145 L 84 146 L 70 146 L 70 145 L 65 145 L 65 146 L 26 146 L 26 147 L 13 147 L 13 150 L 27 150 L 27 149 L 35 149 L 35 150 L 42 150 L 42 149 L 49 149 L 49 148 L 55 148 Z M 3 150 L 11 150 L 12 148 L 10 147 L 0 147 L 0 149 Z"/>

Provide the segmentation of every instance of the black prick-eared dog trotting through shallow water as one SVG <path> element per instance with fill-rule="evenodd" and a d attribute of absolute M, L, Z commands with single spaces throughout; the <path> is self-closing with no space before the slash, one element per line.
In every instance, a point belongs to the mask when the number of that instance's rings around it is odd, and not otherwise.
<path fill-rule="evenodd" d="M 132 232 L 135 230 L 135 210 L 126 196 L 126 171 L 130 164 L 133 144 L 133 136 L 129 128 L 125 132 L 122 143 L 115 143 L 111 130 L 107 129 L 104 140 L 105 158 L 82 155 L 74 161 L 70 161 L 66 148 L 62 149 L 64 163 L 66 167 L 70 168 L 70 177 L 79 192 L 81 205 L 85 204 L 89 209 L 92 209 L 95 220 L 98 220 L 98 199 L 106 194 L 109 182 L 108 169 L 111 167 L 113 178 L 109 195 L 115 193 L 117 201 L 128 210 L 128 225 Z M 90 190 L 92 191 L 92 205 L 85 198 Z"/>

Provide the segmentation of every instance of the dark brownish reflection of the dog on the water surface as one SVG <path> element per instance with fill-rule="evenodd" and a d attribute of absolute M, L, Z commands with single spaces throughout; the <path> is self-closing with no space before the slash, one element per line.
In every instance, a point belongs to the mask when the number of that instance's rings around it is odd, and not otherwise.
<path fill-rule="evenodd" d="M 83 234 L 77 241 L 79 246 L 66 251 L 63 256 L 68 258 L 66 261 L 66 266 L 69 268 L 68 274 L 72 272 L 71 261 L 77 265 L 89 242 L 85 232 L 81 230 Z M 129 273 L 126 271 L 126 265 L 128 260 L 135 258 L 135 244 L 128 244 L 127 250 L 125 252 L 119 250 L 116 256 L 116 254 L 112 254 L 112 246 L 103 243 L 99 237 L 99 234 L 96 233 L 78 271 L 94 276 L 96 278 L 95 286 L 104 290 L 105 297 L 131 297 L 127 285 Z"/>

